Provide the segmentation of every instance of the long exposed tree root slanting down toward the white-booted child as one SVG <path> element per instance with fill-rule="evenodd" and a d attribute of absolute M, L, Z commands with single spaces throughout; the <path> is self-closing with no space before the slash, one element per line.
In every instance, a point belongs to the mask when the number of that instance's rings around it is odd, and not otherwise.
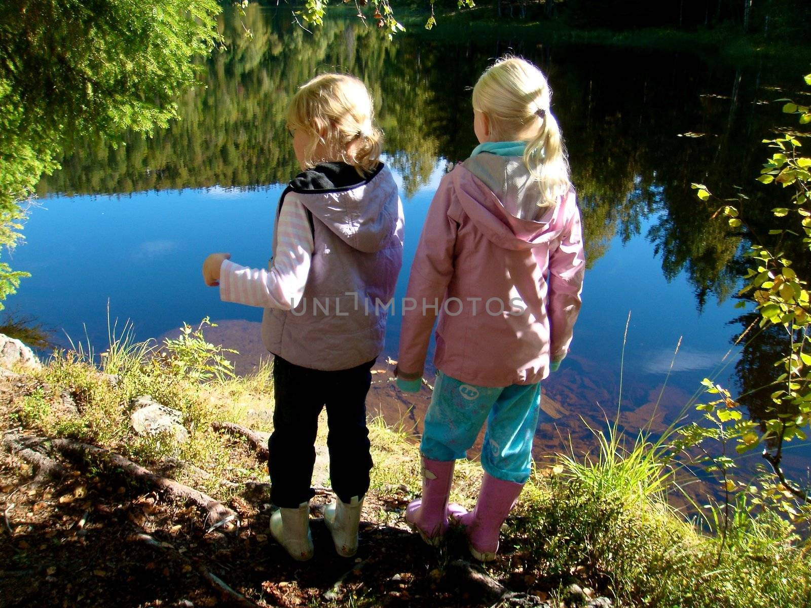
<path fill-rule="evenodd" d="M 188 500 L 195 503 L 195 505 L 206 512 L 206 525 L 220 524 L 226 518 L 228 520 L 237 520 L 236 512 L 226 507 L 218 500 L 212 499 L 211 496 L 205 495 L 200 492 L 200 490 L 195 490 L 180 482 L 175 482 L 174 479 L 156 475 L 149 469 L 144 469 L 144 467 L 136 465 L 132 460 L 110 452 L 104 447 L 96 447 L 72 439 L 52 439 L 50 443 L 55 450 L 66 456 L 81 459 L 88 456 L 96 456 L 97 458 L 108 460 L 112 465 L 120 467 L 128 476 L 156 487 L 157 490 L 161 490 L 161 492 L 169 496 L 170 499 Z"/>

